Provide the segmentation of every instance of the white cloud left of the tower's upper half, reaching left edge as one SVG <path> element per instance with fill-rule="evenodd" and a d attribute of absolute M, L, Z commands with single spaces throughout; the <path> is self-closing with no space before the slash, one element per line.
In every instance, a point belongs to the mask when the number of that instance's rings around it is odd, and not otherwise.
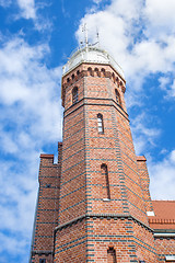
<path fill-rule="evenodd" d="M 10 106 L 5 116 L 8 119 L 14 114 L 13 108 L 18 112 L 12 123 L 23 125 L 25 119 L 37 121 L 35 127 L 33 122 L 27 127 L 32 135 L 42 135 L 45 128 L 49 138 L 56 138 L 58 130 L 55 119 L 59 122 L 60 117 L 57 111 L 58 99 L 54 96 L 58 89 L 56 83 L 60 79 L 61 69 L 48 70 L 40 64 L 40 59 L 48 53 L 46 45 L 30 47 L 22 39 L 10 41 L 0 50 L 0 101 Z M 4 121 L 4 116 L 0 118 Z"/>

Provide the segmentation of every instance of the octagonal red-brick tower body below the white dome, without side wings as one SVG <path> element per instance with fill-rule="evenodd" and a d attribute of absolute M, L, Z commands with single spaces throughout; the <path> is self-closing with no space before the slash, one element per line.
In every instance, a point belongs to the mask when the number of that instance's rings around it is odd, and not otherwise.
<path fill-rule="evenodd" d="M 72 105 L 74 87 L 79 102 Z M 121 105 L 116 103 L 115 89 Z M 62 79 L 65 121 L 55 262 L 107 262 L 109 248 L 116 251 L 117 263 L 156 262 L 124 92 L 125 81 L 106 65 L 82 64 Z M 104 134 L 98 133 L 98 113 Z M 109 199 L 104 199 L 102 164 L 108 170 Z"/>

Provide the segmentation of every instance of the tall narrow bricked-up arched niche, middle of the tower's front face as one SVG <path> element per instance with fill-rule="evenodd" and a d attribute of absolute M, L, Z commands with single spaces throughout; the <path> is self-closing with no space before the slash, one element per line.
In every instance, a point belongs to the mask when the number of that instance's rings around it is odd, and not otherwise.
<path fill-rule="evenodd" d="M 103 183 L 103 198 L 104 199 L 110 199 L 110 190 L 109 190 L 109 180 L 108 180 L 108 170 L 107 165 L 103 163 L 101 165 L 101 172 L 102 172 L 102 182 Z"/>

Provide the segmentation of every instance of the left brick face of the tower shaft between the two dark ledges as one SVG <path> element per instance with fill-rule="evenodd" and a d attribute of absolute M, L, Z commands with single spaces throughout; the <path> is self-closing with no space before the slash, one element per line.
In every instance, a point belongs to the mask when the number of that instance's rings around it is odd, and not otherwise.
<path fill-rule="evenodd" d="M 65 115 L 59 224 L 85 213 L 84 113 Z"/>

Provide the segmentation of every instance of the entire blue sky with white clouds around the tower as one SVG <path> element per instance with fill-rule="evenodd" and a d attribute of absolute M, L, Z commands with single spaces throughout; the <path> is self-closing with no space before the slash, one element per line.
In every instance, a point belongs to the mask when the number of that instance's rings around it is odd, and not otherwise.
<path fill-rule="evenodd" d="M 61 140 L 61 70 L 83 39 L 122 67 L 151 195 L 175 199 L 175 1 L 0 0 L 0 262 L 28 261 L 40 152 Z"/>

